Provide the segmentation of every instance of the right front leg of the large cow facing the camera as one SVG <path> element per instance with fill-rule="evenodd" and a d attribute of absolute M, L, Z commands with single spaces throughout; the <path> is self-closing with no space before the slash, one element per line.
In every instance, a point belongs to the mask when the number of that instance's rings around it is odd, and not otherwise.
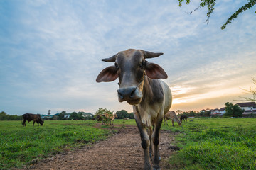
<path fill-rule="evenodd" d="M 153 140 L 153 144 L 154 144 L 154 159 L 153 159 L 153 167 L 154 169 L 160 169 L 160 154 L 159 154 L 159 136 L 160 136 L 160 128 L 161 128 L 161 123 L 162 120 L 159 120 L 154 128 L 154 132 L 152 135 L 152 140 Z"/>

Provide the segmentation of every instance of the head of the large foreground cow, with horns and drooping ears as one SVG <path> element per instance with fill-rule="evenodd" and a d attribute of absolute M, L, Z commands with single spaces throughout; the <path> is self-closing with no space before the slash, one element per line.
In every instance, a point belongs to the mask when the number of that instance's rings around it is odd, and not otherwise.
<path fill-rule="evenodd" d="M 145 75 L 150 79 L 166 79 L 167 74 L 158 64 L 147 62 L 147 58 L 159 57 L 163 53 L 146 52 L 129 49 L 118 52 L 104 62 L 114 62 L 114 66 L 107 67 L 100 72 L 96 81 L 114 81 L 119 78 L 117 90 L 119 102 L 127 101 L 137 105 L 142 101 L 142 91 Z"/>

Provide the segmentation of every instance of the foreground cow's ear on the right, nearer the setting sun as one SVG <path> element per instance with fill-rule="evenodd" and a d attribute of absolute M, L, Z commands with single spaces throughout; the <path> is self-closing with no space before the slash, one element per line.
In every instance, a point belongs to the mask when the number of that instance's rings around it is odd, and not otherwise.
<path fill-rule="evenodd" d="M 152 62 L 146 62 L 146 75 L 150 79 L 167 79 L 168 77 L 162 67 Z"/>

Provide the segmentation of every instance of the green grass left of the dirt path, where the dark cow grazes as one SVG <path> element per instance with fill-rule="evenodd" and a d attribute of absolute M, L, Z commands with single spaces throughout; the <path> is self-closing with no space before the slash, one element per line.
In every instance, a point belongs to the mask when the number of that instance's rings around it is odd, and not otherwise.
<path fill-rule="evenodd" d="M 45 120 L 43 126 L 34 127 L 33 122 L 26 124 L 27 128 L 21 121 L 0 121 L 0 169 L 20 168 L 33 159 L 85 147 L 112 134 L 94 128 L 92 120 Z"/>

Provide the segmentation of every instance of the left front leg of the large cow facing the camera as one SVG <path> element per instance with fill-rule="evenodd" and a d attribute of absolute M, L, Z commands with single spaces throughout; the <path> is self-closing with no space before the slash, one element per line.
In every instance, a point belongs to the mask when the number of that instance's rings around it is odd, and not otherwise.
<path fill-rule="evenodd" d="M 152 169 L 151 162 L 149 159 L 149 145 L 150 145 L 150 140 L 149 140 L 149 135 L 146 132 L 146 127 L 142 125 L 142 122 L 137 118 L 137 116 L 134 114 L 137 127 L 139 129 L 139 134 L 142 140 L 142 148 L 144 151 L 144 169 L 149 170 Z"/>

